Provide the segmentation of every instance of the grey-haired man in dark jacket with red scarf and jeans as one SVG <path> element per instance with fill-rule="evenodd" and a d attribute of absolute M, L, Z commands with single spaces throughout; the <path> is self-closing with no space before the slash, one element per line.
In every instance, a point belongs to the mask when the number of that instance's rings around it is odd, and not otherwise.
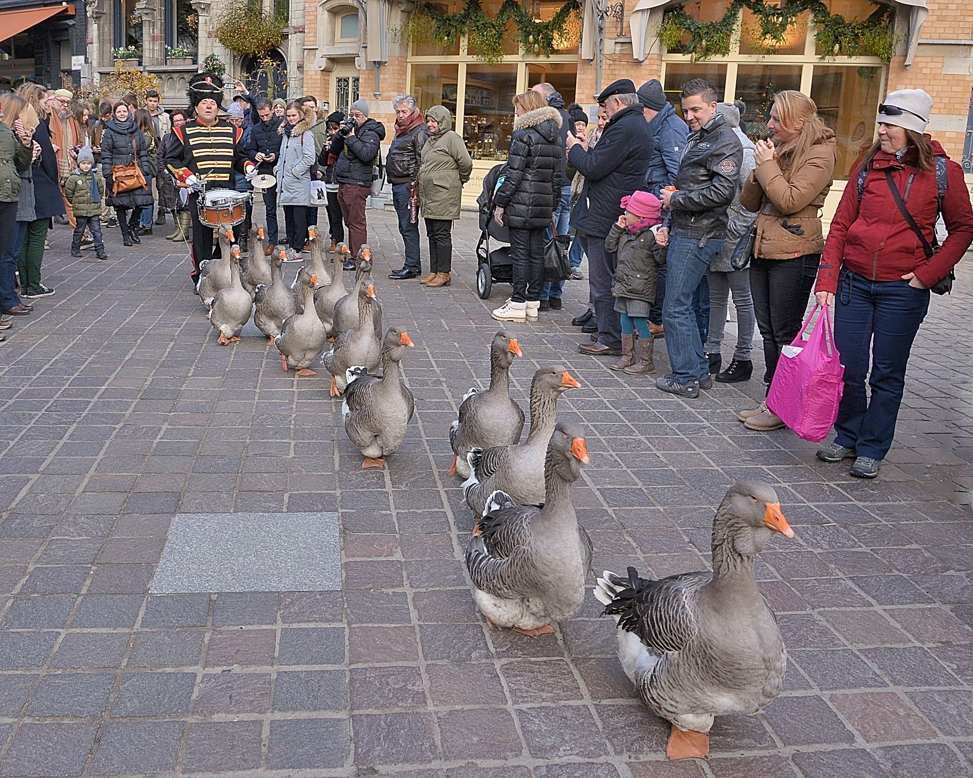
<path fill-rule="evenodd" d="M 422 147 L 429 140 L 429 128 L 411 94 L 400 94 L 393 99 L 392 110 L 395 111 L 395 139 L 385 158 L 385 174 L 392 185 L 392 204 L 399 217 L 399 234 L 406 246 L 406 262 L 401 269 L 389 273 L 388 277 L 400 281 L 422 274 L 418 214 L 412 221 L 409 198 L 419 169 Z"/>

